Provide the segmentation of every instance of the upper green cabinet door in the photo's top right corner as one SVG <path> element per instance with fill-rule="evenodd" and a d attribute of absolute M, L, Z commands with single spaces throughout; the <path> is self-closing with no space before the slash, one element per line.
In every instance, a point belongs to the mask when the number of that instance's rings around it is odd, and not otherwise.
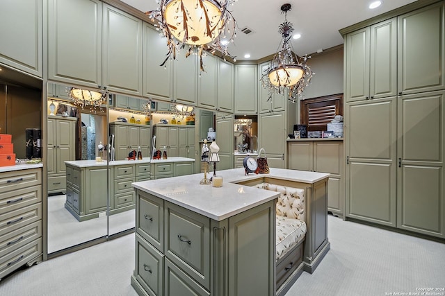
<path fill-rule="evenodd" d="M 444 3 L 398 17 L 398 92 L 445 88 Z"/>

